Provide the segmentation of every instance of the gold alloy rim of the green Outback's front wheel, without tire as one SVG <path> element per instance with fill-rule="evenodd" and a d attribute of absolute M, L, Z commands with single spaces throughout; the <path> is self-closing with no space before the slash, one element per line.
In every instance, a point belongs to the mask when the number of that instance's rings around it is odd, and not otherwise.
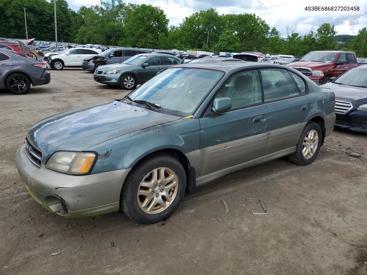
<path fill-rule="evenodd" d="M 178 191 L 178 178 L 171 169 L 160 167 L 150 171 L 141 181 L 137 199 L 148 214 L 162 212 L 171 205 Z"/>

